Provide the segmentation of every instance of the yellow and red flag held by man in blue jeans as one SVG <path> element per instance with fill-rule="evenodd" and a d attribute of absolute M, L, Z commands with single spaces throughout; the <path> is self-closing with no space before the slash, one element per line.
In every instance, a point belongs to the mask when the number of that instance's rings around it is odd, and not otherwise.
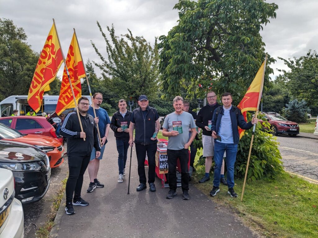
<path fill-rule="evenodd" d="M 241 110 L 245 122 L 247 122 L 246 111 L 257 111 L 259 107 L 259 101 L 262 96 L 264 73 L 265 73 L 266 59 L 260 66 L 255 78 L 253 79 L 250 87 L 247 89 L 242 101 L 239 103 L 238 108 Z M 243 129 L 239 127 L 239 138 L 244 135 Z"/>

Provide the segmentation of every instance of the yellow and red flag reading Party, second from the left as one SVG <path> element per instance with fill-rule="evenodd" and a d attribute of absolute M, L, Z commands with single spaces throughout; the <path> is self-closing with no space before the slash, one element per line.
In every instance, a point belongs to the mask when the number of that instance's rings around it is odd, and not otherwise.
<path fill-rule="evenodd" d="M 75 33 L 73 34 L 70 48 L 68 49 L 66 66 L 70 75 L 74 95 L 77 101 L 82 96 L 80 79 L 85 77 L 85 68 L 79 52 L 79 45 L 77 43 Z M 66 73 L 66 68 L 64 67 L 59 101 L 57 103 L 55 112 L 57 115 L 60 115 L 65 109 L 74 107 L 75 103 L 73 100 L 72 90 Z"/>

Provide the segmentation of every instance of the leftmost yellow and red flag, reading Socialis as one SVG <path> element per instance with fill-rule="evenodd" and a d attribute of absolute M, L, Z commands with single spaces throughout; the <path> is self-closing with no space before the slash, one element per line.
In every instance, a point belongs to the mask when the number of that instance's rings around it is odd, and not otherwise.
<path fill-rule="evenodd" d="M 53 24 L 46 38 L 29 89 L 28 103 L 35 112 L 40 110 L 44 91 L 55 79 L 62 62 L 62 51 Z"/>

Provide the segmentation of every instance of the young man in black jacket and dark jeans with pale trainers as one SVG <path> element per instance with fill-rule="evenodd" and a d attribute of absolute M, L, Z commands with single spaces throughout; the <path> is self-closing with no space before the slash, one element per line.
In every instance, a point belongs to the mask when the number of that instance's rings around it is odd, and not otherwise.
<path fill-rule="evenodd" d="M 122 183 L 124 182 L 123 176 L 126 175 L 125 167 L 129 147 L 128 141 L 131 111 L 127 110 L 127 103 L 124 99 L 118 101 L 118 107 L 119 110 L 114 113 L 110 122 L 110 128 L 114 131 L 118 151 L 119 178 L 117 182 Z"/>

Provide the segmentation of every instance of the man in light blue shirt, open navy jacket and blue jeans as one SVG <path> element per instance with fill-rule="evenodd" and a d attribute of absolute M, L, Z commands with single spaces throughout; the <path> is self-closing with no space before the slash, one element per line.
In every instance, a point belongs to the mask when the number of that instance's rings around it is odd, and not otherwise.
<path fill-rule="evenodd" d="M 214 147 L 214 180 L 213 189 L 210 192 L 211 196 L 215 196 L 219 191 L 220 171 L 223 161 L 223 155 L 226 151 L 226 168 L 227 168 L 227 186 L 228 193 L 232 197 L 238 195 L 234 192 L 234 163 L 239 144 L 239 129 L 251 129 L 254 123 L 258 122 L 257 118 L 253 118 L 252 122 L 246 123 L 241 111 L 232 106 L 232 94 L 223 93 L 223 106 L 214 110 L 212 118 L 212 137 L 215 139 Z"/>

